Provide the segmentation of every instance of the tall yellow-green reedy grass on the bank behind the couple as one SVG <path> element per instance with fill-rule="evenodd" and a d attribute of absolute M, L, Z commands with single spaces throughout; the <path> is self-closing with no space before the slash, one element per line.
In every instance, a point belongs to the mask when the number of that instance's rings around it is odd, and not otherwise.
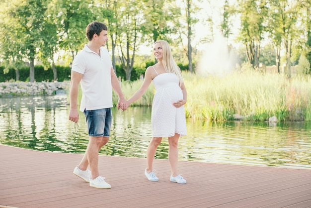
<path fill-rule="evenodd" d="M 275 115 L 279 121 L 311 121 L 310 75 L 288 79 L 281 74 L 240 69 L 222 77 L 183 72 L 183 78 L 188 93 L 188 118 L 228 121 L 240 115 L 249 121 L 267 121 Z M 139 80 L 122 83 L 125 97 L 130 98 L 141 84 Z M 151 85 L 132 106 L 151 106 L 154 94 Z M 117 99 L 114 94 L 114 104 Z"/>

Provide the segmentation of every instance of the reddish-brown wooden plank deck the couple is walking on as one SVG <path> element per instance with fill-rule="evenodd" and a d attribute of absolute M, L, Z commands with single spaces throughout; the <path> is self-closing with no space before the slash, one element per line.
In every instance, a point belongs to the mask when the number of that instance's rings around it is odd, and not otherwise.
<path fill-rule="evenodd" d="M 155 160 L 150 182 L 146 159 L 100 156 L 112 186 L 101 190 L 72 173 L 81 158 L 0 145 L 0 208 L 311 207 L 311 170 L 180 161 L 187 184 L 177 184 L 167 160 Z"/>

